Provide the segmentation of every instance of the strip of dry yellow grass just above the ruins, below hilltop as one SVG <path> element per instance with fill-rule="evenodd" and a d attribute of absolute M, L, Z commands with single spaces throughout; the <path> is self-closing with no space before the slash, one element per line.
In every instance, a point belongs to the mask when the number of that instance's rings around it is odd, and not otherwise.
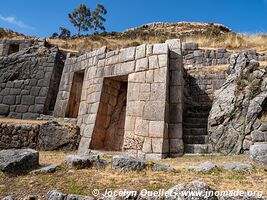
<path fill-rule="evenodd" d="M 62 49 L 71 51 L 91 51 L 94 48 L 108 46 L 109 50 L 124 48 L 129 46 L 136 46 L 139 44 L 153 44 L 162 43 L 166 39 L 173 38 L 173 36 L 162 37 L 140 37 L 136 38 L 114 38 L 112 36 L 84 36 L 81 38 L 72 39 L 48 39 L 51 44 L 58 45 Z M 179 38 L 177 36 L 177 38 Z M 196 42 L 200 48 L 227 48 L 231 52 L 256 49 L 259 53 L 267 52 L 267 35 L 244 35 L 228 33 L 220 36 L 213 35 L 195 35 L 181 37 L 183 42 Z"/>

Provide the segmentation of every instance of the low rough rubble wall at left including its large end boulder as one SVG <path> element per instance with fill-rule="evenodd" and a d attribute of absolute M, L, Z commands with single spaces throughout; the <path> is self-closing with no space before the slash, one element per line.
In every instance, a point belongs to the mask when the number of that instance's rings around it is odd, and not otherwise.
<path fill-rule="evenodd" d="M 76 150 L 79 128 L 67 122 L 0 122 L 0 150 L 33 148 L 38 150 Z"/>

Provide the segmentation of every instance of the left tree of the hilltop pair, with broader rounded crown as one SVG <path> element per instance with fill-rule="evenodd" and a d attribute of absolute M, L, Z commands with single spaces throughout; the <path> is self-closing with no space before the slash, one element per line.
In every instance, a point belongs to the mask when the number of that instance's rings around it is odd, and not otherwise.
<path fill-rule="evenodd" d="M 78 35 L 82 31 L 91 29 L 91 11 L 84 4 L 80 4 L 72 13 L 69 13 L 70 22 L 78 29 Z"/>

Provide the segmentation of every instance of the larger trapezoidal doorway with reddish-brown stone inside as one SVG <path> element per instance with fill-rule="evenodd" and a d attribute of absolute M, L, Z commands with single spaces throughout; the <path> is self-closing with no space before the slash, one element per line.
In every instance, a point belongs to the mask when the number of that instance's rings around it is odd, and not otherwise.
<path fill-rule="evenodd" d="M 120 151 L 124 139 L 127 76 L 105 78 L 90 149 Z"/>

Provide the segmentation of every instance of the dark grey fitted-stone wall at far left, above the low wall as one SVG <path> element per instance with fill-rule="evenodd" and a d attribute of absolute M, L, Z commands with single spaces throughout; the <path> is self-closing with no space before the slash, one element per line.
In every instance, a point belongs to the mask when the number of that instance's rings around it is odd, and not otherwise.
<path fill-rule="evenodd" d="M 63 62 L 57 47 L 35 45 L 0 58 L 0 116 L 33 119 L 53 109 Z"/>

